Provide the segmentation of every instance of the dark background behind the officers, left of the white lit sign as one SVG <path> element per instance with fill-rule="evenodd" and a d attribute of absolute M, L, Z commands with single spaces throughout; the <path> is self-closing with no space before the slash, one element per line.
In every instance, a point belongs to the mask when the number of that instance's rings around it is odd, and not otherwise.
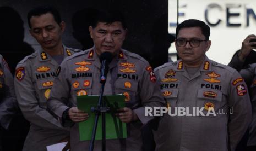
<path fill-rule="evenodd" d="M 1 0 L 0 54 L 13 74 L 17 63 L 40 47 L 29 34 L 26 15 L 31 8 L 46 4 L 54 5 L 66 22 L 63 43 L 68 47 L 83 50 L 92 47 L 88 26 L 95 8 L 118 9 L 126 16 L 128 26 L 123 48 L 143 56 L 153 68 L 168 61 L 168 48 L 173 41 L 167 31 L 168 0 Z M 28 127 L 19 112 L 10 129 L 4 132 L 4 150 L 21 150 Z"/>

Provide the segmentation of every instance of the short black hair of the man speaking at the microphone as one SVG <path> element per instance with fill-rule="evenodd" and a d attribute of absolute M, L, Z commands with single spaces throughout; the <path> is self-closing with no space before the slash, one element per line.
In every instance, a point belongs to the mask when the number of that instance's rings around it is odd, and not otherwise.
<path fill-rule="evenodd" d="M 91 26 L 92 26 L 92 28 L 95 28 L 99 22 L 105 22 L 106 24 L 111 24 L 115 21 L 121 22 L 124 29 L 127 28 L 126 20 L 121 11 L 119 11 L 119 10 L 107 10 L 107 11 L 98 10 L 95 15 L 94 20 L 92 21 Z"/>

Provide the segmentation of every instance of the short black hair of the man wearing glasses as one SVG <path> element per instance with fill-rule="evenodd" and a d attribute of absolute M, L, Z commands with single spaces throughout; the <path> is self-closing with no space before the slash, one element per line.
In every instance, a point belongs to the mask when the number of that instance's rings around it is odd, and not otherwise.
<path fill-rule="evenodd" d="M 202 34 L 205 36 L 206 40 L 209 40 L 210 37 L 210 27 L 205 24 L 205 22 L 197 20 L 197 19 L 189 19 L 183 21 L 181 24 L 179 24 L 176 28 L 176 37 L 179 34 L 179 30 L 182 28 L 189 28 L 189 27 L 200 27 Z"/>

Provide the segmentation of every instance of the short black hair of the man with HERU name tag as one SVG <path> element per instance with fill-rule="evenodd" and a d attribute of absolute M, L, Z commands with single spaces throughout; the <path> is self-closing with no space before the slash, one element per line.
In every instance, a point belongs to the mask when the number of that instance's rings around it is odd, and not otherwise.
<path fill-rule="evenodd" d="M 58 23 L 58 25 L 61 24 L 62 20 L 61 20 L 61 15 L 59 14 L 59 11 L 52 5 L 43 5 L 43 6 L 35 7 L 29 11 L 27 16 L 29 28 L 31 28 L 30 19 L 32 16 L 41 16 L 47 13 L 51 13 L 53 15 L 53 18 Z"/>

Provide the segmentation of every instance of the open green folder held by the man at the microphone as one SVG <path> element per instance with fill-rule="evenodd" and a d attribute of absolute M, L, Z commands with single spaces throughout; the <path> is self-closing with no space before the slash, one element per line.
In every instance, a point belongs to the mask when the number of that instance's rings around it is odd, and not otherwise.
<path fill-rule="evenodd" d="M 106 101 L 106 106 L 110 107 L 110 112 L 106 113 L 106 139 L 119 139 L 127 137 L 126 123 L 123 123 L 115 116 L 116 110 L 125 107 L 124 95 L 106 95 L 102 99 Z M 95 113 L 91 112 L 91 107 L 97 107 L 99 96 L 77 96 L 78 109 L 89 113 L 89 118 L 79 123 L 80 141 L 91 140 L 94 127 Z M 95 140 L 102 139 L 102 116 L 99 116 Z"/>

